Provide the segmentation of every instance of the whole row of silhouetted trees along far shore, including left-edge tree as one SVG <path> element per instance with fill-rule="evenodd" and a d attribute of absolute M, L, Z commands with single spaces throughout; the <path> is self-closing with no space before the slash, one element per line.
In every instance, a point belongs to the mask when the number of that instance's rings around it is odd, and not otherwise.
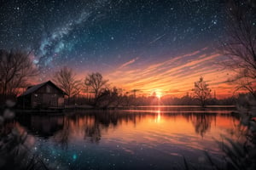
<path fill-rule="evenodd" d="M 29 85 L 30 77 L 39 76 L 38 69 L 32 64 L 29 53 L 1 50 L 1 101 L 15 99 L 21 88 Z M 159 99 L 156 94 L 137 96 L 138 89 L 125 89 L 110 86 L 99 72 L 91 72 L 79 80 L 75 72 L 62 67 L 52 75 L 52 81 L 67 94 L 66 105 L 93 105 L 108 108 L 137 105 L 234 105 L 234 99 L 216 99 L 203 77 L 195 82 L 191 94 L 181 98 L 165 97 Z M 3 104 L 3 103 L 2 103 Z"/>

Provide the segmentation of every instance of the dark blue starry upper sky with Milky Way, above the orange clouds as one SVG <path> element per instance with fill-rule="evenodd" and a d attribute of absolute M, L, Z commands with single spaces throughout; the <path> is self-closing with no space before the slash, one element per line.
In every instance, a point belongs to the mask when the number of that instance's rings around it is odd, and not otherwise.
<path fill-rule="evenodd" d="M 32 51 L 43 77 L 63 65 L 111 74 L 213 50 L 224 8 L 220 0 L 2 0 L 0 48 Z"/>

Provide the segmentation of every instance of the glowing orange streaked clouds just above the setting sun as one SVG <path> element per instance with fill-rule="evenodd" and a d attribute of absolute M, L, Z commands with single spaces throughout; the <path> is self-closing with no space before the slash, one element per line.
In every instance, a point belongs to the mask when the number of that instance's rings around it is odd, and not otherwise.
<path fill-rule="evenodd" d="M 209 54 L 207 48 L 190 54 L 172 57 L 166 61 L 141 67 L 135 66 L 138 58 L 119 66 L 119 70 L 108 74 L 113 84 L 125 90 L 140 89 L 142 94 L 160 90 L 163 95 L 181 96 L 191 91 L 199 77 L 209 84 L 217 97 L 230 96 L 234 87 L 226 81 L 231 75 L 218 65 L 224 59 L 220 54 Z"/>

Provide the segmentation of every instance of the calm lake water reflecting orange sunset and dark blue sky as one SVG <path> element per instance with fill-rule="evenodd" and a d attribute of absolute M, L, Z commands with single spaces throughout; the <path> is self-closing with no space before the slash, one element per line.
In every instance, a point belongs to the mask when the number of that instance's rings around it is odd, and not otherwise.
<path fill-rule="evenodd" d="M 138 107 L 123 111 L 70 111 L 66 116 L 20 116 L 32 150 L 60 169 L 206 168 L 205 150 L 221 163 L 216 140 L 238 120 L 231 107 Z"/>

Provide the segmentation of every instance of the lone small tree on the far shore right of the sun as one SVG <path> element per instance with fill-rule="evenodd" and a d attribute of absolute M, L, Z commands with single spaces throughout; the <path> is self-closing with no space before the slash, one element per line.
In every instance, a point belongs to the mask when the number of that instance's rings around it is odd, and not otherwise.
<path fill-rule="evenodd" d="M 199 81 L 195 82 L 195 88 L 192 89 L 195 93 L 195 98 L 200 100 L 202 107 L 206 105 L 207 99 L 211 96 L 212 90 L 208 86 L 203 77 L 200 77 Z"/>

